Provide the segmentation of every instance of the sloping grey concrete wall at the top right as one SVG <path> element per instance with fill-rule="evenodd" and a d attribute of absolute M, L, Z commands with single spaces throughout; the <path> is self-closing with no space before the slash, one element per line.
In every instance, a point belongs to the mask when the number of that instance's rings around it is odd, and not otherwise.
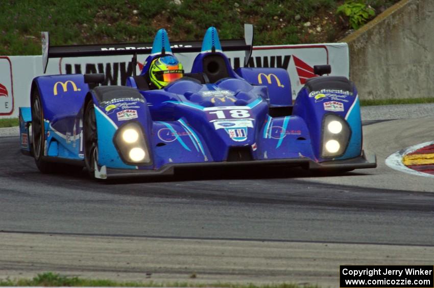
<path fill-rule="evenodd" d="M 434 97 L 434 0 L 402 0 L 341 41 L 360 99 Z"/>

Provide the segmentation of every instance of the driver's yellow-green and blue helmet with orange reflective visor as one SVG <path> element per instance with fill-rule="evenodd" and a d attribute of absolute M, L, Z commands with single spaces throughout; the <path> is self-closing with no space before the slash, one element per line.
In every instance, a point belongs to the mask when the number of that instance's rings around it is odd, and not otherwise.
<path fill-rule="evenodd" d="M 149 68 L 149 78 L 158 89 L 178 80 L 183 75 L 182 64 L 173 56 L 156 58 Z"/>

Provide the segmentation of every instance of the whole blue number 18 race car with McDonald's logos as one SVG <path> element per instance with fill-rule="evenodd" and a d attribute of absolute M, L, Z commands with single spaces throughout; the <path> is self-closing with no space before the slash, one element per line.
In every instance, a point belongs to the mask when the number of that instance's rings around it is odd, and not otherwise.
<path fill-rule="evenodd" d="M 21 151 L 38 169 L 86 167 L 94 178 L 171 175 L 183 167 L 302 166 L 344 172 L 376 167 L 362 150 L 357 90 L 341 76 L 310 78 L 293 104 L 281 68 L 233 70 L 225 50 L 251 54 L 253 28 L 243 41 L 220 42 L 215 28 L 202 45 L 172 49 L 165 30 L 152 49 L 51 46 L 42 34 L 44 69 L 52 57 L 150 54 L 126 86 L 100 86 L 104 74 L 34 78 L 31 107 L 20 108 Z M 222 49 L 223 48 L 223 49 Z M 190 73 L 152 89 L 150 65 L 158 57 L 199 52 Z M 135 67 L 135 66 L 133 66 Z M 134 69 L 133 69 L 134 70 Z M 315 66 L 319 75 L 330 66 Z"/>

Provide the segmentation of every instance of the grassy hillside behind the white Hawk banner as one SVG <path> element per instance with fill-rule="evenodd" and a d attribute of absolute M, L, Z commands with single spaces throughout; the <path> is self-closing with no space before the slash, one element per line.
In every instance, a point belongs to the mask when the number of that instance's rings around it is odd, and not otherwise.
<path fill-rule="evenodd" d="M 50 32 L 52 45 L 152 42 L 160 28 L 167 30 L 172 41 L 200 40 L 211 25 L 219 30 L 221 39 L 236 39 L 244 35 L 243 24 L 252 23 L 255 45 L 335 41 L 343 30 L 335 19 L 341 1 L 3 1 L 0 55 L 40 55 L 41 31 Z M 365 1 L 374 9 L 384 9 L 399 0 Z M 373 12 L 366 6 L 357 12 L 352 3 L 357 2 L 350 1 L 344 7 L 350 14 L 356 12 L 355 23 L 365 21 L 360 19 Z M 304 26 L 306 22 L 311 25 Z M 318 27 L 321 32 L 317 32 Z"/>

